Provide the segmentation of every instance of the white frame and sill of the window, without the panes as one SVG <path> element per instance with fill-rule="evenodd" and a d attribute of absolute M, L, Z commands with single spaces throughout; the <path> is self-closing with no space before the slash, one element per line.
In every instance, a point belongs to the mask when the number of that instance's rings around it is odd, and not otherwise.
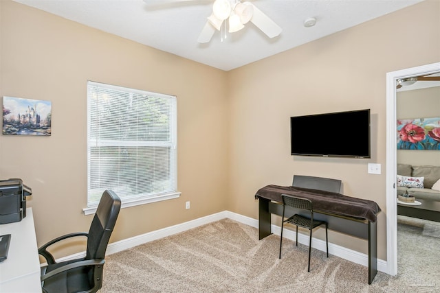
<path fill-rule="evenodd" d="M 169 131 L 169 139 L 166 141 L 118 141 L 114 143 L 113 141 L 99 141 L 96 138 L 91 138 L 91 98 L 94 96 L 93 89 L 104 89 L 109 91 L 121 92 L 124 94 L 135 94 L 135 95 L 144 95 L 145 97 L 155 97 L 159 99 L 168 99 L 170 102 L 170 117 L 168 123 L 168 131 Z M 94 119 L 96 119 L 94 117 Z M 118 147 L 120 145 L 135 145 L 135 146 L 151 146 L 157 147 L 159 146 L 169 146 L 170 147 L 170 160 L 168 162 L 168 167 L 170 170 L 170 185 L 168 186 L 168 190 L 165 192 L 154 191 L 150 194 L 145 195 L 137 195 L 137 196 L 125 196 L 123 194 L 120 195 L 122 208 L 125 207 L 133 207 L 140 204 L 148 204 L 151 202 L 158 202 L 162 200 L 169 200 L 172 198 L 179 198 L 180 192 L 177 191 L 177 98 L 173 95 L 164 95 L 161 93 L 152 93 L 148 91 L 141 91 L 138 89 L 129 89 L 122 86 L 114 86 L 111 84 L 102 84 L 98 82 L 87 82 L 87 208 L 83 209 L 85 215 L 89 215 L 91 213 L 95 213 L 96 208 L 98 206 L 98 201 L 91 200 L 91 149 L 98 148 L 103 146 L 111 146 Z M 104 189 L 112 189 L 111 187 L 102 187 L 102 192 Z M 118 194 L 118 191 L 115 191 Z"/>

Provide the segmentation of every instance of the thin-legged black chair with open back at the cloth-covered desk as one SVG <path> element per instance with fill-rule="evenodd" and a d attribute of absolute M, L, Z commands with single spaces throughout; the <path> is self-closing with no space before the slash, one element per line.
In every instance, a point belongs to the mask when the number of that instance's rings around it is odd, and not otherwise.
<path fill-rule="evenodd" d="M 296 225 L 296 246 L 298 246 L 298 226 L 307 228 L 310 231 L 310 239 L 309 239 L 309 267 L 307 268 L 307 272 L 310 272 L 310 255 L 311 255 L 311 231 L 314 228 L 325 225 L 325 244 L 327 246 L 327 257 L 329 257 L 329 242 L 327 240 L 327 228 L 328 224 L 325 221 L 314 220 L 314 207 L 311 203 L 311 200 L 307 198 L 298 198 L 296 196 L 288 196 L 287 194 L 282 194 L 281 198 L 283 198 L 283 222 L 281 223 L 281 239 L 280 239 L 280 259 L 281 259 L 281 247 L 283 246 L 283 226 L 284 223 L 290 223 Z M 284 220 L 285 215 L 285 207 L 294 207 L 296 209 L 301 209 L 303 211 L 307 211 L 309 213 L 309 217 L 305 215 L 300 215 L 296 213 L 292 215 L 292 217 Z"/>

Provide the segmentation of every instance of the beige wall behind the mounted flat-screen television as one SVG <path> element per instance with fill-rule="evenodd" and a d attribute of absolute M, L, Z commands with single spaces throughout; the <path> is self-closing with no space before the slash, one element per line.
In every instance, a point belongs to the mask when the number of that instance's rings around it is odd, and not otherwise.
<path fill-rule="evenodd" d="M 338 178 L 344 194 L 382 208 L 378 257 L 386 259 L 386 73 L 440 61 L 439 15 L 439 1 L 424 1 L 230 71 L 228 208 L 258 218 L 260 187 L 289 185 L 294 174 Z M 289 117 L 362 108 L 371 108 L 371 159 L 290 156 Z M 368 163 L 382 164 L 382 174 L 368 174 Z M 332 232 L 329 241 L 367 253 L 363 240 Z"/>

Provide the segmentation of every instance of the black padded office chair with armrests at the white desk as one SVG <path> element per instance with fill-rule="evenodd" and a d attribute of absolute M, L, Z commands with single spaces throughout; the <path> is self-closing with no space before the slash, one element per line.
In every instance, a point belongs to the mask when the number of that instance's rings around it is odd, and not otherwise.
<path fill-rule="evenodd" d="M 120 207 L 119 196 L 111 190 L 104 191 L 89 233 L 63 235 L 39 248 L 39 254 L 43 255 L 47 261 L 47 266 L 41 267 L 43 292 L 96 292 L 102 287 L 105 250 L 107 250 Z M 87 237 L 86 256 L 56 263 L 47 248 L 60 240 L 75 236 Z"/>

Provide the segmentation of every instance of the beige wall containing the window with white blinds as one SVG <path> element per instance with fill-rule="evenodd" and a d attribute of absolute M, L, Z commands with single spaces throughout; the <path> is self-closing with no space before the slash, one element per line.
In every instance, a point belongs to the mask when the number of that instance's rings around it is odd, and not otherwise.
<path fill-rule="evenodd" d="M 0 95 L 52 101 L 52 136 L 0 135 L 0 178 L 32 187 L 39 245 L 89 228 L 87 80 L 177 95 L 181 197 L 122 209 L 111 242 L 227 209 L 225 71 L 12 1 L 0 9 Z"/>

